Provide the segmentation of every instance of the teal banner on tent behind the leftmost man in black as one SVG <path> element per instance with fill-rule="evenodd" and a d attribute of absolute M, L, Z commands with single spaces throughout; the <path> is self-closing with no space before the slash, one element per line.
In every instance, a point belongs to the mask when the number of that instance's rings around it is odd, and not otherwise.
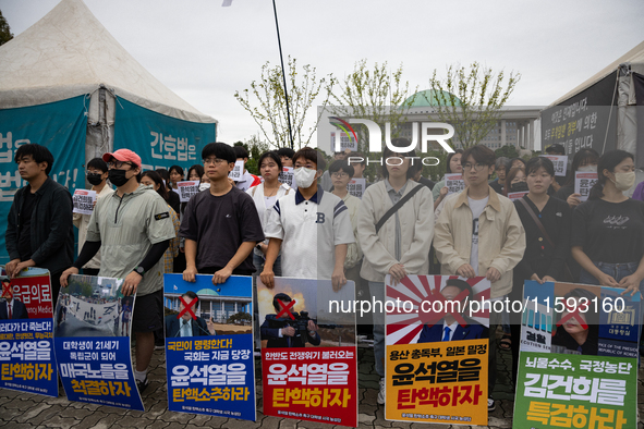
<path fill-rule="evenodd" d="M 70 192 L 85 186 L 85 136 L 87 117 L 85 96 L 17 109 L 0 109 L 0 229 L 7 229 L 7 216 L 17 189 L 26 185 L 14 162 L 16 149 L 29 143 L 46 146 L 53 155 L 49 176 Z M 9 255 L 4 234 L 0 235 L 0 263 Z"/>

